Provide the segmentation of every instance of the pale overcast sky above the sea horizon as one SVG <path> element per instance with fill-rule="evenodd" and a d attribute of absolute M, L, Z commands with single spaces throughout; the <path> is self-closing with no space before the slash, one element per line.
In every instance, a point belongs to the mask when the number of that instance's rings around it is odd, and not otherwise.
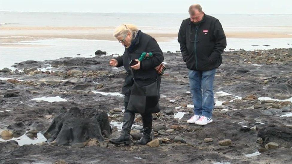
<path fill-rule="evenodd" d="M 292 14 L 292 0 L 0 0 L 1 11 L 186 13 L 199 3 L 206 13 Z"/>

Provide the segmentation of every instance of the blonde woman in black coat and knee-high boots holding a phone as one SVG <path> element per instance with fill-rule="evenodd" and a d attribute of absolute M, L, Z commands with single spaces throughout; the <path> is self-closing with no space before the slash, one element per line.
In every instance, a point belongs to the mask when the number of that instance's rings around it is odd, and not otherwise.
<path fill-rule="evenodd" d="M 111 59 L 109 64 L 113 67 L 124 66 L 127 71 L 127 76 L 125 77 L 125 82 L 122 88 L 122 93 L 125 95 L 125 112 L 121 136 L 109 141 L 117 145 L 129 145 L 131 143 L 130 131 L 135 118 L 135 113 L 127 109 L 131 94 L 131 87 L 134 84 L 134 79 L 131 75 L 130 68 L 133 70 L 135 82 L 140 86 L 149 85 L 157 80 L 157 88 L 159 92 L 161 76 L 156 72 L 155 67 L 163 62 L 164 57 L 156 40 L 150 35 L 138 30 L 138 28 L 133 24 L 121 24 L 116 27 L 114 37 L 125 47 L 125 51 L 123 56 L 119 56 L 116 59 Z M 139 61 L 138 59 L 143 52 L 151 52 L 153 56 L 147 60 L 145 59 Z M 136 64 L 130 66 L 131 60 L 136 61 Z M 146 108 L 145 111 L 146 112 L 144 114 L 141 114 L 144 129 L 143 136 L 139 141 L 136 141 L 135 144 L 142 145 L 151 141 L 152 113 L 157 113 L 160 111 L 159 104 L 156 105 L 156 108 Z"/>

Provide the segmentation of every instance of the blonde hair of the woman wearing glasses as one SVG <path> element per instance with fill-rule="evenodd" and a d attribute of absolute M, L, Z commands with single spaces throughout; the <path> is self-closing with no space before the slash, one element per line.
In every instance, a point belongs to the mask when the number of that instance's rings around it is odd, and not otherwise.
<path fill-rule="evenodd" d="M 135 38 L 136 34 L 138 32 L 137 26 L 135 26 L 133 24 L 121 24 L 115 28 L 113 36 L 115 38 L 118 38 L 118 37 L 126 35 L 129 32 L 131 33 L 131 36 L 133 36 L 133 34 L 134 34 L 134 38 Z"/>

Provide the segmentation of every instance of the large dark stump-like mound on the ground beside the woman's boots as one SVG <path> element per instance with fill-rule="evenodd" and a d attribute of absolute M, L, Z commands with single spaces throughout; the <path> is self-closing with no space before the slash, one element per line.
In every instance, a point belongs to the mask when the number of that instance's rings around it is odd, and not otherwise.
<path fill-rule="evenodd" d="M 102 131 L 111 133 L 108 116 L 104 111 L 85 108 L 80 111 L 73 107 L 58 114 L 45 131 L 48 142 L 55 141 L 57 145 L 73 145 L 86 142 L 90 138 L 104 141 Z"/>

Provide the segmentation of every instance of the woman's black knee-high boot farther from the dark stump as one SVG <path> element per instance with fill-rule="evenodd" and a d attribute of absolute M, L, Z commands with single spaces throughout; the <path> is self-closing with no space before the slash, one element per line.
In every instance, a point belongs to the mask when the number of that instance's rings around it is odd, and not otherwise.
<path fill-rule="evenodd" d="M 152 131 L 152 114 L 143 114 L 142 115 L 142 122 L 144 133 L 140 140 L 136 141 L 135 144 L 137 145 L 145 145 L 152 140 L 151 131 Z"/>

